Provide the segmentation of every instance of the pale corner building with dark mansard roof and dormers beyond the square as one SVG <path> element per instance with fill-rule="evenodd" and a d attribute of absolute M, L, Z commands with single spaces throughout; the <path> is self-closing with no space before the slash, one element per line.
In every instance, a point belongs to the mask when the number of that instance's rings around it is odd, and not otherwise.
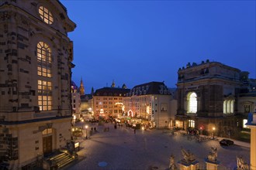
<path fill-rule="evenodd" d="M 175 118 L 171 109 L 175 109 L 176 104 L 171 100 L 171 90 L 163 82 L 150 82 L 133 87 L 124 97 L 123 104 L 128 117 L 147 120 L 150 127 L 170 128 Z"/>

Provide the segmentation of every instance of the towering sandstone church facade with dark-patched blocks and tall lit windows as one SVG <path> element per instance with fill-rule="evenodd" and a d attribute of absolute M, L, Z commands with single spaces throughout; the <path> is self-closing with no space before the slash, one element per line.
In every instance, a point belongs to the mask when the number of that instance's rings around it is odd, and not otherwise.
<path fill-rule="evenodd" d="M 0 163 L 31 169 L 71 139 L 75 28 L 59 1 L 0 2 Z"/>

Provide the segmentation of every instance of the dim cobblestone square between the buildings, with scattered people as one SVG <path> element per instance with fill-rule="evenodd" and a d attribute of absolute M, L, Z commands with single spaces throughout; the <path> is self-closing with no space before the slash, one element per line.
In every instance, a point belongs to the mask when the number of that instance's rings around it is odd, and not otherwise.
<path fill-rule="evenodd" d="M 234 169 L 237 156 L 242 155 L 245 160 L 250 157 L 250 148 L 236 145 L 236 142 L 223 147 L 218 138 L 198 142 L 181 133 L 171 134 L 168 130 L 137 130 L 134 134 L 132 128 L 115 129 L 114 124 L 89 124 L 88 130 L 94 127 L 98 132 L 92 133 L 87 140 L 77 140 L 81 142 L 78 161 L 65 169 L 167 169 L 171 155 L 175 156 L 178 166 L 178 161 L 182 160 L 182 148 L 195 155 L 201 169 L 206 167 L 205 158 L 211 147 L 217 148 L 219 169 Z M 107 127 L 109 131 L 104 131 Z"/>

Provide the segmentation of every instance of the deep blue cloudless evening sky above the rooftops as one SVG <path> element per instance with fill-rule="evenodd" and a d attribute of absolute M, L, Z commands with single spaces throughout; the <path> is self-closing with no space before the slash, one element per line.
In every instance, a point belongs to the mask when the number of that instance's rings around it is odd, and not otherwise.
<path fill-rule="evenodd" d="M 85 93 L 126 83 L 164 81 L 176 87 L 178 68 L 202 60 L 256 78 L 255 1 L 61 0 L 77 24 L 72 80 Z"/>

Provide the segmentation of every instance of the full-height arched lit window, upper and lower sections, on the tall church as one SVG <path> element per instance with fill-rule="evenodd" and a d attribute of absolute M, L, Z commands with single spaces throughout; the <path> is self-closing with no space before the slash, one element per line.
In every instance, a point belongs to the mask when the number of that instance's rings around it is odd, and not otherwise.
<path fill-rule="evenodd" d="M 38 106 L 40 110 L 52 110 L 52 82 L 51 73 L 51 49 L 45 42 L 38 42 L 37 56 L 37 80 Z"/>

